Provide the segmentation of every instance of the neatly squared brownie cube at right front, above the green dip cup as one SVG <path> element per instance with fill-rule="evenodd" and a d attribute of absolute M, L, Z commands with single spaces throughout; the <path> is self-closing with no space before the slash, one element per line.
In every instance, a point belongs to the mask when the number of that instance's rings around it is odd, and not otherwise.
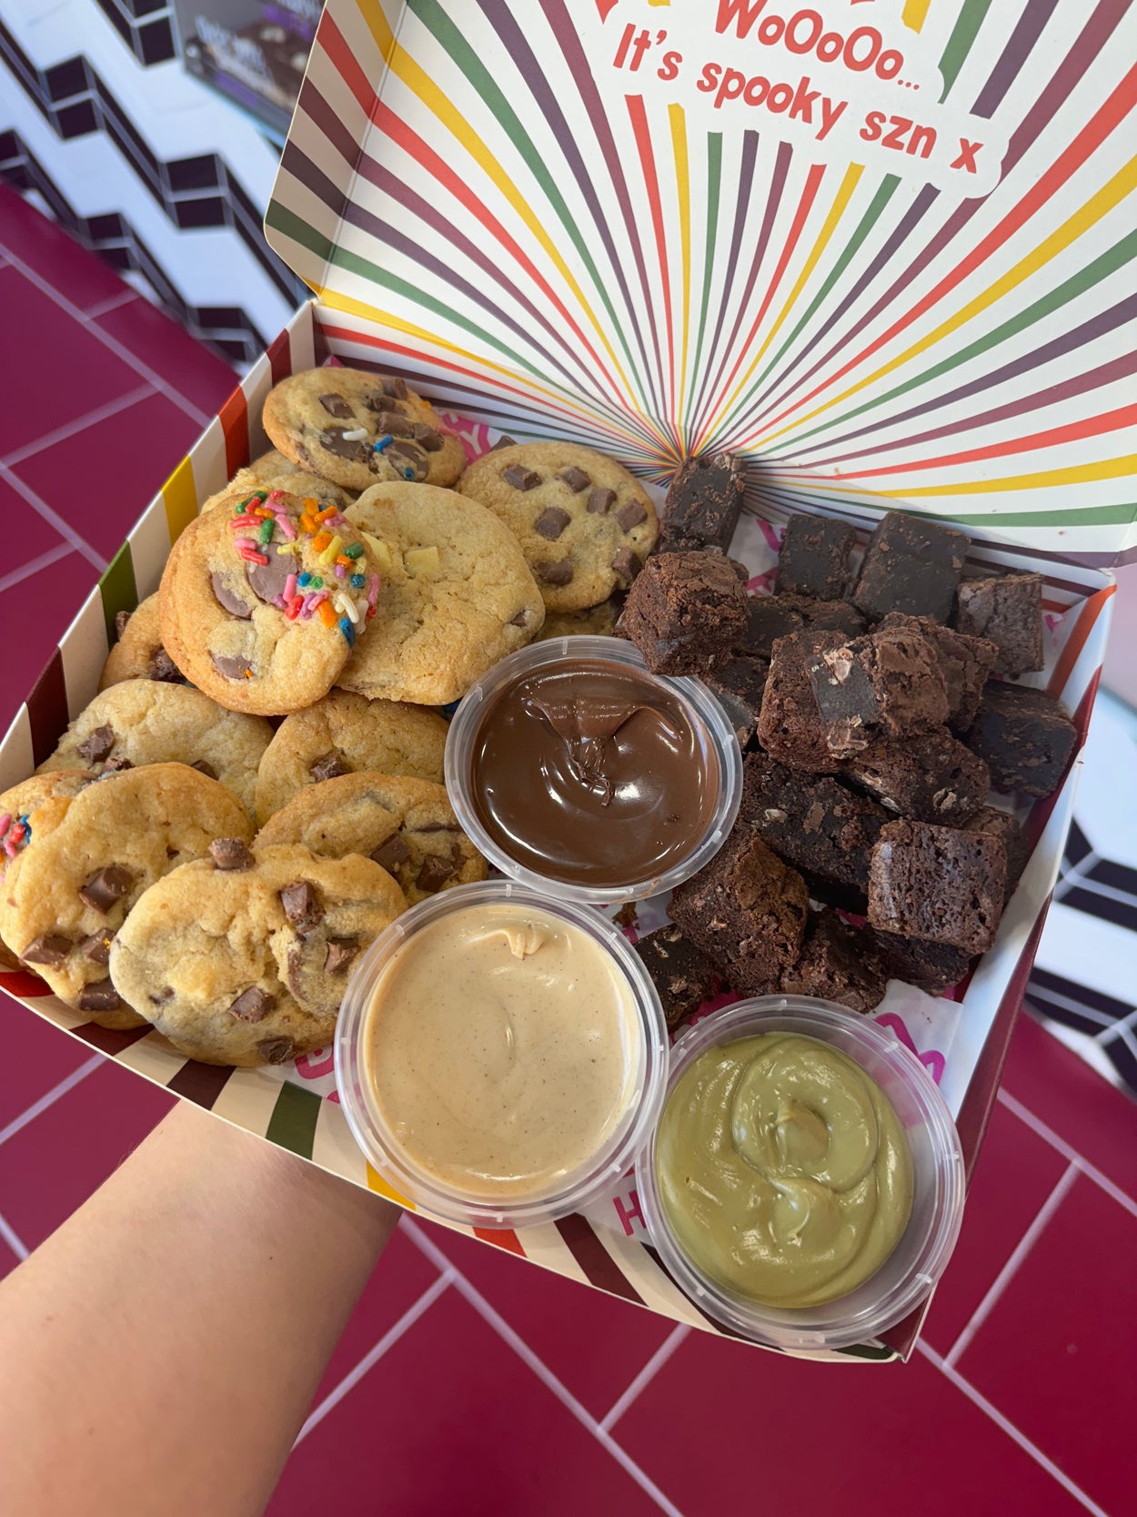
<path fill-rule="evenodd" d="M 869 925 L 985 953 L 999 928 L 1005 881 L 999 837 L 888 822 L 869 866 Z"/>

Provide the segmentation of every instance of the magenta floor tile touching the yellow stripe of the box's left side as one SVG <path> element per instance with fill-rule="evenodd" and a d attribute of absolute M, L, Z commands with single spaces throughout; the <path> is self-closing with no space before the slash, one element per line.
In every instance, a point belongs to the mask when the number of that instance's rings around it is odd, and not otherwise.
<path fill-rule="evenodd" d="M 14 472 L 109 560 L 199 431 L 164 394 L 150 394 Z"/>

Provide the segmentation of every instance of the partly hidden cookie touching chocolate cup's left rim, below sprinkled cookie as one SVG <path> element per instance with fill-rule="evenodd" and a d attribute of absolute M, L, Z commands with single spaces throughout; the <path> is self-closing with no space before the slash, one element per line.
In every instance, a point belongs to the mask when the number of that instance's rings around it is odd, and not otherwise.
<path fill-rule="evenodd" d="M 365 769 L 441 784 L 446 733 L 435 711 L 332 690 L 287 718 L 268 743 L 256 775 L 258 824 L 264 827 L 297 790 L 341 774 Z"/>

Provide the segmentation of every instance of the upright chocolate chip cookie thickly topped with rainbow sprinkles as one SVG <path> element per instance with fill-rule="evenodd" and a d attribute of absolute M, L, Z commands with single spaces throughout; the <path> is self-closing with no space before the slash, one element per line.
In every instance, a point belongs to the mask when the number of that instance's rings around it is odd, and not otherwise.
<path fill-rule="evenodd" d="M 170 552 L 162 642 L 221 705 L 279 716 L 327 693 L 377 598 L 374 560 L 335 507 L 312 513 L 276 490 L 233 495 Z"/>

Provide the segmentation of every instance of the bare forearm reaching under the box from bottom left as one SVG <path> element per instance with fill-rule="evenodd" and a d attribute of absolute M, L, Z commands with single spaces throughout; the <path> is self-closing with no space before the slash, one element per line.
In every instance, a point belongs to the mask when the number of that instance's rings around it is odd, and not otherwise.
<path fill-rule="evenodd" d="M 179 1104 L 0 1285 L 0 1511 L 259 1512 L 396 1220 Z"/>

